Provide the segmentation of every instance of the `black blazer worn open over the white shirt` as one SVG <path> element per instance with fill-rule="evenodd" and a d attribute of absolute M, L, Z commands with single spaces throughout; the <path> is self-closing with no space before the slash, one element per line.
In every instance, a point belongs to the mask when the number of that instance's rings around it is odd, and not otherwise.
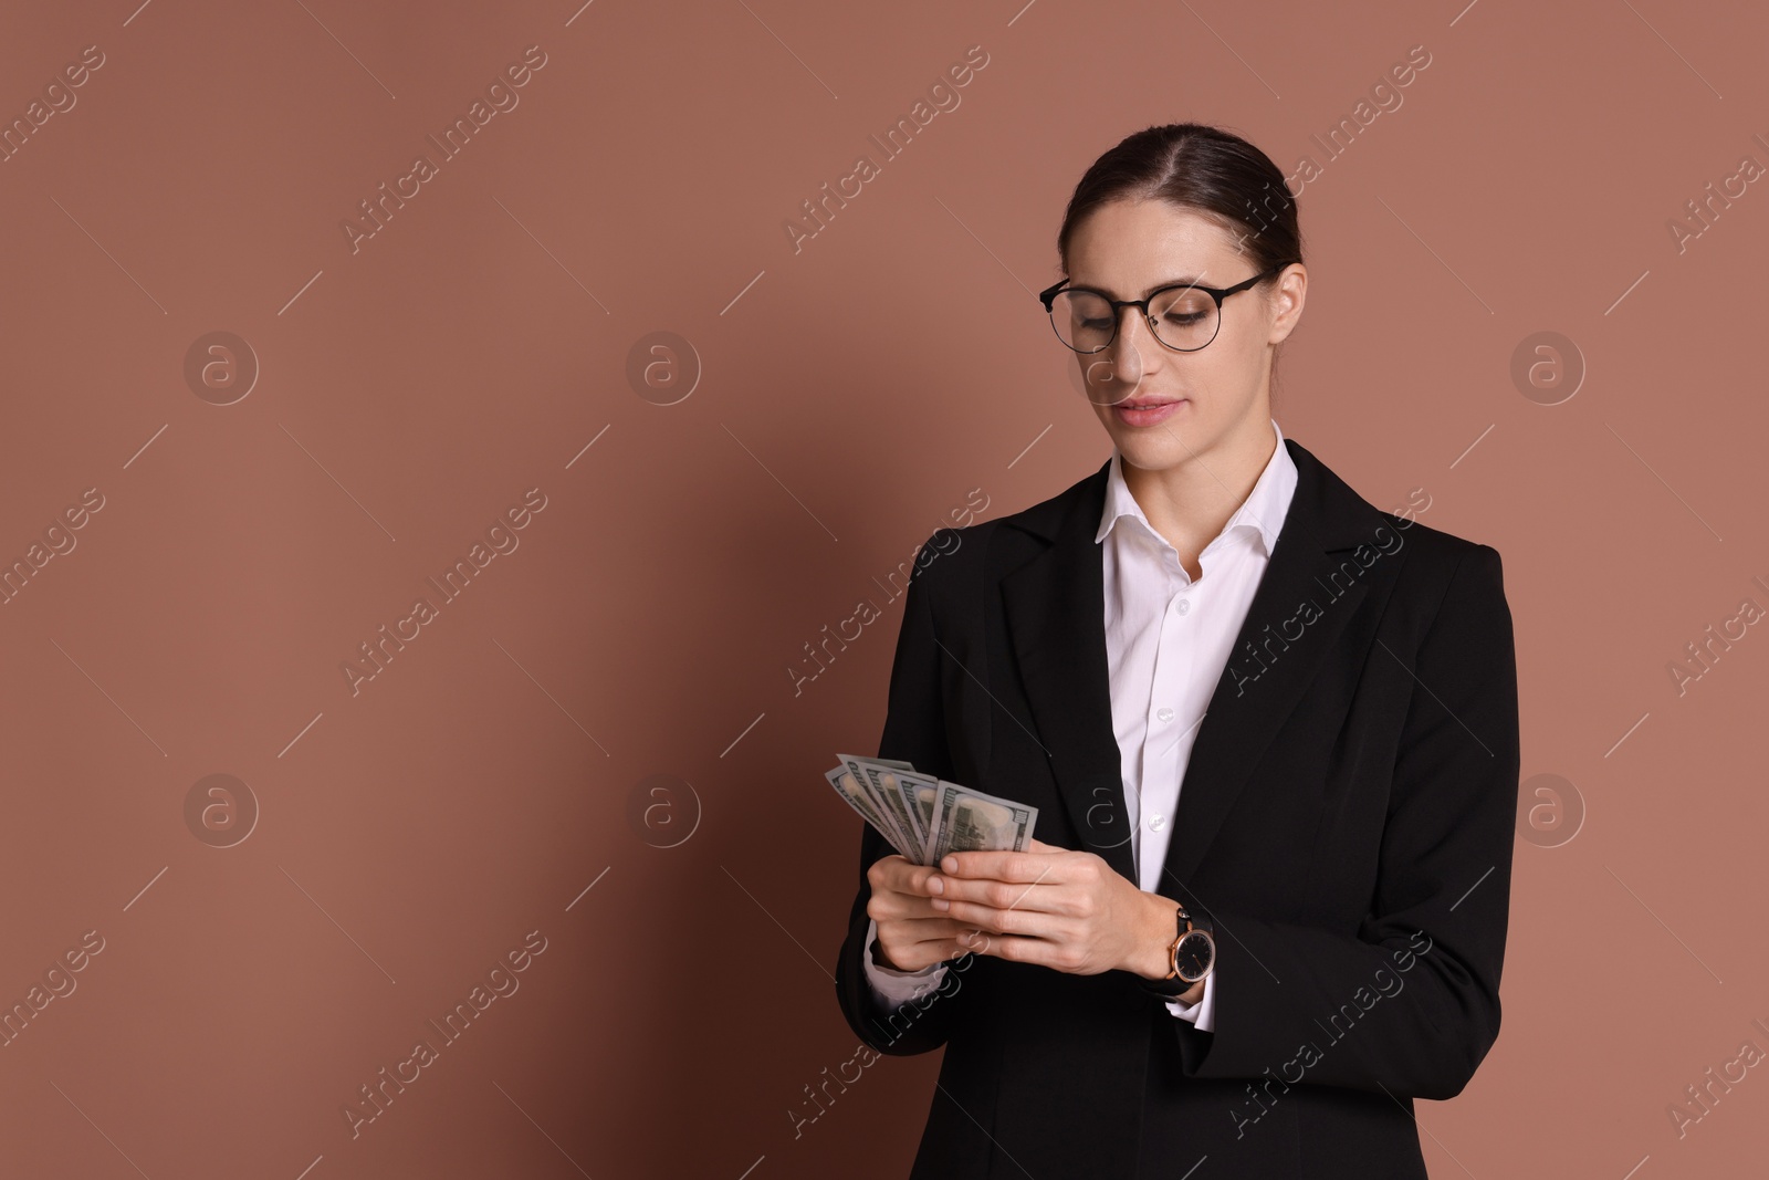
<path fill-rule="evenodd" d="M 1215 1030 L 1127 971 L 989 955 L 881 1010 L 865 869 L 892 849 L 865 828 L 837 994 L 881 1053 L 945 1047 L 913 1176 L 1424 1176 L 1412 1100 L 1459 1093 L 1493 1046 L 1518 796 L 1498 552 L 1378 511 L 1284 446 L 1295 497 L 1159 888 L 1215 923 Z M 879 757 L 1031 803 L 1040 840 L 1134 881 L 1106 478 L 943 538 L 906 591 Z"/>

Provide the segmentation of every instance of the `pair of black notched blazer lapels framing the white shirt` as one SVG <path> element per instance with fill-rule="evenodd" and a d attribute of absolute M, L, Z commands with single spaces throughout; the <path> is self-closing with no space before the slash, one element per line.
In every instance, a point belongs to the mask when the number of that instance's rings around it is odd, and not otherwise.
<path fill-rule="evenodd" d="M 1369 587 L 1367 579 L 1350 577 L 1369 561 L 1346 554 L 1360 547 L 1376 552 L 1382 513 L 1300 444 L 1284 439 L 1284 446 L 1297 465 L 1297 490 L 1180 789 L 1164 869 L 1182 885 Z M 1001 598 L 1063 808 L 1083 847 L 1136 881 L 1111 716 L 1102 547 L 1093 540 L 1107 467 L 1076 485 L 1067 511 L 1026 515 L 1022 524 L 1051 543 L 1001 579 Z M 1309 623 L 1298 617 L 1304 601 L 1320 609 Z"/>

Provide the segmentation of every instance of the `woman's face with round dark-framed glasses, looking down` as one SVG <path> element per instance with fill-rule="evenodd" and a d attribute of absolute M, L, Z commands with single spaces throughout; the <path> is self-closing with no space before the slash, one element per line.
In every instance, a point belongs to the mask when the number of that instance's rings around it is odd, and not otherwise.
<path fill-rule="evenodd" d="M 1111 299 L 1143 299 L 1169 283 L 1233 287 L 1258 274 L 1237 235 L 1162 200 L 1107 202 L 1068 241 L 1074 287 Z M 1148 471 L 1206 462 L 1270 435 L 1272 352 L 1302 315 L 1307 272 L 1293 264 L 1222 301 L 1215 338 L 1175 352 L 1136 310 L 1095 354 L 1076 354 L 1093 412 L 1125 462 Z"/>

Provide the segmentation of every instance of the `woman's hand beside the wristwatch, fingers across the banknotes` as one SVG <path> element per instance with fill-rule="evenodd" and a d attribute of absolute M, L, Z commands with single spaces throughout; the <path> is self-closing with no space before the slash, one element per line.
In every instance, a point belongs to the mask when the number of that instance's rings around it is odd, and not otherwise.
<path fill-rule="evenodd" d="M 1072 975 L 1168 973 L 1175 900 L 1145 893 L 1093 853 L 1033 840 L 1024 853 L 948 853 L 932 906 L 978 927 L 978 954 Z"/>

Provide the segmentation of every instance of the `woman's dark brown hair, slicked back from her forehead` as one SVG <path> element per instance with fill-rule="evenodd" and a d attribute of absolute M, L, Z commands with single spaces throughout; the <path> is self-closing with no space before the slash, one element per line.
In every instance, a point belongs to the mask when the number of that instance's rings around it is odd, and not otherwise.
<path fill-rule="evenodd" d="M 1056 235 L 1065 271 L 1076 226 L 1113 200 L 1183 205 L 1237 235 L 1256 271 L 1302 262 L 1297 200 L 1284 173 L 1265 152 L 1221 127 L 1196 122 L 1148 127 L 1095 159 L 1068 198 Z"/>

